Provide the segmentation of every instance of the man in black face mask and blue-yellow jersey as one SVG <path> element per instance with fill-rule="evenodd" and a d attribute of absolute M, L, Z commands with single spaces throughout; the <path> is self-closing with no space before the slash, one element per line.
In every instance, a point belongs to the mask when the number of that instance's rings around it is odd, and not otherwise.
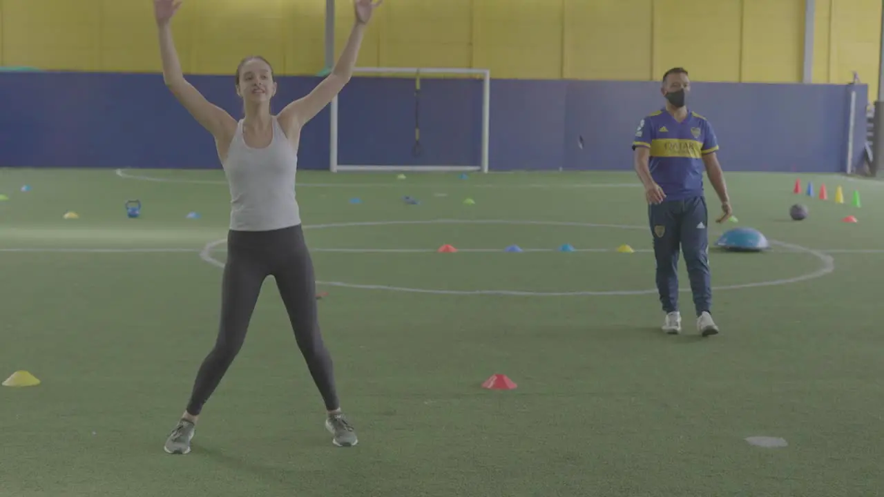
<path fill-rule="evenodd" d="M 644 184 L 648 218 L 657 258 L 657 288 L 666 318 L 663 330 L 682 331 L 678 310 L 678 259 L 684 251 L 690 290 L 697 310 L 697 332 L 719 333 L 711 314 L 712 281 L 709 271 L 708 210 L 703 191 L 703 172 L 721 201 L 723 215 L 730 218 L 728 187 L 716 157 L 718 140 L 713 126 L 703 116 L 688 110 L 688 72 L 682 67 L 663 76 L 660 92 L 667 103 L 663 109 L 642 119 L 632 149 L 635 167 Z"/>

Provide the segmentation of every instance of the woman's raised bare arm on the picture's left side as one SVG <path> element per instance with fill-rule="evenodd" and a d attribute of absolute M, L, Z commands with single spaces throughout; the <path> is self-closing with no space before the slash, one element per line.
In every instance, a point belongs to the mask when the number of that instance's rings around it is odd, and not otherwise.
<path fill-rule="evenodd" d="M 160 56 L 163 59 L 163 80 L 172 95 L 216 140 L 228 139 L 236 128 L 236 121 L 224 109 L 206 100 L 199 90 L 184 79 L 181 71 L 178 52 L 171 35 L 171 18 L 179 6 L 179 0 L 154 0 Z"/>

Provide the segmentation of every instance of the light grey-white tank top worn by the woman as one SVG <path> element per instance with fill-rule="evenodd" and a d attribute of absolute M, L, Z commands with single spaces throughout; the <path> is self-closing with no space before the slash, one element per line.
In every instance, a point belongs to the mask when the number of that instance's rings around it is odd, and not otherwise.
<path fill-rule="evenodd" d="M 224 172 L 230 187 L 230 229 L 267 231 L 301 224 L 294 195 L 298 152 L 272 116 L 273 139 L 253 149 L 242 136 L 242 119 L 230 143 Z"/>

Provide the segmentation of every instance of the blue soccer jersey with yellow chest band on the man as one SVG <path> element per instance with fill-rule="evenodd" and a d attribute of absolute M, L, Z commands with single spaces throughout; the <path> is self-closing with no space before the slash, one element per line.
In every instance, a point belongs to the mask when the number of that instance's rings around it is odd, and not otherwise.
<path fill-rule="evenodd" d="M 666 200 L 703 195 L 703 156 L 718 150 L 713 126 L 696 112 L 676 121 L 666 110 L 642 119 L 632 149 L 651 149 L 651 176 L 666 193 Z"/>

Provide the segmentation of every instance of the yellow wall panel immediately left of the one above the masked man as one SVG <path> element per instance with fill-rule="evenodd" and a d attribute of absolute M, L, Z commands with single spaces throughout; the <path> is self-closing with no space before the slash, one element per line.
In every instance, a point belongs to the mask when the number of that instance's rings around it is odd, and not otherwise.
<path fill-rule="evenodd" d="M 648 80 L 653 0 L 565 0 L 564 74 L 575 80 Z"/>

